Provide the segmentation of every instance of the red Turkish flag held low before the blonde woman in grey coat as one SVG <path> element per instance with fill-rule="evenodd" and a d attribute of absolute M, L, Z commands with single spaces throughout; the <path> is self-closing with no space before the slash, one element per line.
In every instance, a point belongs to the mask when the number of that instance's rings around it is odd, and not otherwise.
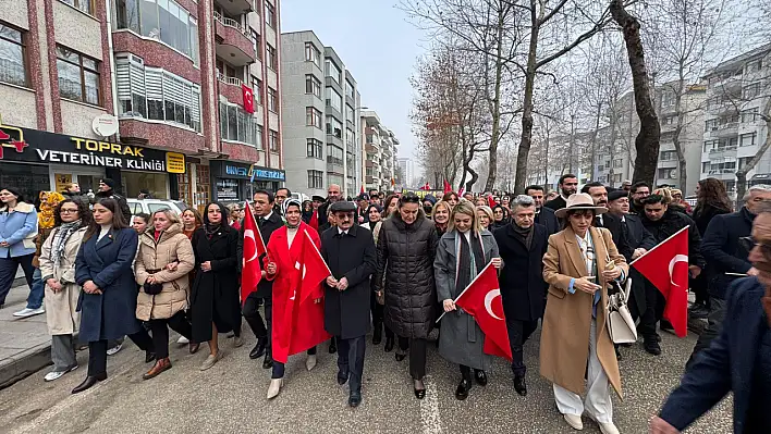
<path fill-rule="evenodd" d="M 479 328 L 485 333 L 485 352 L 505 357 L 511 361 L 512 349 L 509 346 L 506 319 L 503 315 L 501 286 L 492 263 L 488 263 L 481 273 L 477 274 L 455 299 L 455 305 L 474 317 Z"/>

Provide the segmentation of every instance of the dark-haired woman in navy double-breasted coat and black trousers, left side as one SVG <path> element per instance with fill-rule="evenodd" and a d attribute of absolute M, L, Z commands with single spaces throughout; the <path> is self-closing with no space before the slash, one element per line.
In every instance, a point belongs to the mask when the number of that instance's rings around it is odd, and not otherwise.
<path fill-rule="evenodd" d="M 137 243 L 136 232 L 123 220 L 115 199 L 100 199 L 94 204 L 94 221 L 75 260 L 75 281 L 83 286 L 77 300 L 79 339 L 88 343 L 88 374 L 73 394 L 107 379 L 108 339 L 127 335 L 146 351 L 146 362 L 156 357 L 150 336 L 136 319 L 132 264 Z"/>

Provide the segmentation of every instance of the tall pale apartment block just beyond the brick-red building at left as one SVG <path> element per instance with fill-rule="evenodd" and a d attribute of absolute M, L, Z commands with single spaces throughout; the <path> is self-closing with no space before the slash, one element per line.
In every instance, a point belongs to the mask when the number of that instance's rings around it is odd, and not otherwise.
<path fill-rule="evenodd" d="M 357 195 L 362 97 L 356 80 L 311 30 L 282 34 L 281 51 L 286 185 L 326 197 L 327 187 L 338 184 L 343 196 Z"/>

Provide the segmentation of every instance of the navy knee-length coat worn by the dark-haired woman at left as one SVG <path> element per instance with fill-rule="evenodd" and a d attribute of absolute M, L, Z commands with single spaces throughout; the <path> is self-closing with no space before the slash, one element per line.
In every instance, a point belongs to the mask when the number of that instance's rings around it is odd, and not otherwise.
<path fill-rule="evenodd" d="M 119 339 L 139 331 L 136 319 L 136 282 L 132 262 L 136 256 L 137 235 L 132 228 L 112 230 L 101 239 L 94 234 L 77 252 L 75 280 L 88 281 L 102 294 L 81 293 L 81 340 Z"/>

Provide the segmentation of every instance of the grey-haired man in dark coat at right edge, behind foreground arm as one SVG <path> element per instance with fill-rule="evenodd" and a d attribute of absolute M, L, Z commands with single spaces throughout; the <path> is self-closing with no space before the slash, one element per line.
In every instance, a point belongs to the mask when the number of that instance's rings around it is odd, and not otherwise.
<path fill-rule="evenodd" d="M 701 255 L 708 264 L 707 290 L 710 295 L 710 309 L 707 328 L 699 335 L 688 365 L 696 360 L 696 354 L 708 348 L 720 333 L 725 319 L 725 300 L 730 296 L 727 288 L 731 283 L 744 274 L 758 275 L 758 270 L 748 260 L 749 250 L 739 243 L 739 238 L 750 235 L 759 209 L 771 202 L 771 186 L 761 184 L 749 187 L 744 202 L 744 207 L 737 212 L 713 216 L 701 239 Z"/>

